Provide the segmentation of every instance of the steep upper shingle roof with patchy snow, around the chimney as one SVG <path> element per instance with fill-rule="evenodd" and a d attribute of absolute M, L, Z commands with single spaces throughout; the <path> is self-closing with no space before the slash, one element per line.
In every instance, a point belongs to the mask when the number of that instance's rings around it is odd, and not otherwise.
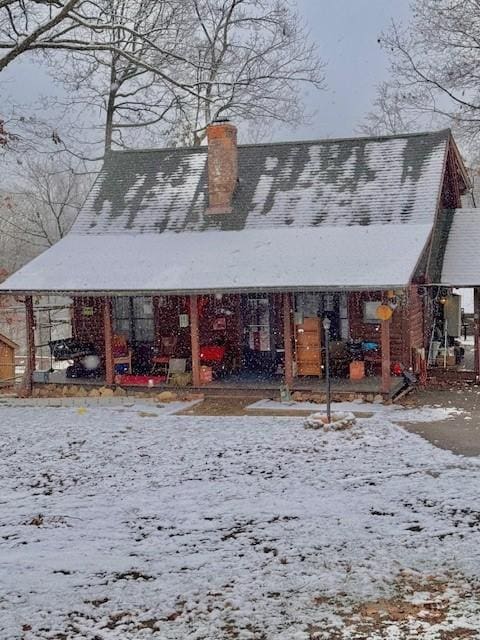
<path fill-rule="evenodd" d="M 74 233 L 431 224 L 450 132 L 240 145 L 233 213 L 205 215 L 207 149 L 111 153 Z"/>

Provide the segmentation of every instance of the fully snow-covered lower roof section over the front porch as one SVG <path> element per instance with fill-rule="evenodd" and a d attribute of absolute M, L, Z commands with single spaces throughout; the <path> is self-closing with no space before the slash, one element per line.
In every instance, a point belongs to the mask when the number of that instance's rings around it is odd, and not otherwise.
<path fill-rule="evenodd" d="M 410 282 L 430 225 L 69 234 L 0 292 L 386 289 Z"/>

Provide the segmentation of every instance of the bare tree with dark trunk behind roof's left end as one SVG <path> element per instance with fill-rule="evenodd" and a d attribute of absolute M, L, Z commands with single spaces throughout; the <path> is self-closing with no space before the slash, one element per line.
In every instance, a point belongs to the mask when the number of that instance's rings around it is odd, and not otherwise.
<path fill-rule="evenodd" d="M 182 88 L 187 83 L 182 80 L 182 85 L 179 79 L 188 77 L 190 47 L 183 2 L 158 2 L 154 7 L 150 2 L 133 0 L 109 0 L 106 4 L 111 24 L 128 21 L 134 26 L 121 44 L 124 50 L 133 52 L 132 59 L 112 48 L 71 52 L 63 59 L 61 71 L 58 56 L 49 61 L 52 74 L 68 90 L 61 106 L 67 118 L 73 113 L 77 119 L 73 130 L 80 130 L 82 139 L 89 137 L 94 144 L 103 139 L 108 150 L 112 144 L 132 144 L 137 130 L 165 124 L 175 91 L 188 92 Z M 107 31 L 105 37 L 113 41 L 115 32 Z M 150 61 L 163 74 L 145 68 L 137 59 Z M 177 81 L 172 85 L 169 77 Z M 190 90 L 196 92 L 195 88 Z M 56 101 L 54 106 L 58 104 Z M 101 112 L 103 118 L 92 117 L 95 112 Z"/>

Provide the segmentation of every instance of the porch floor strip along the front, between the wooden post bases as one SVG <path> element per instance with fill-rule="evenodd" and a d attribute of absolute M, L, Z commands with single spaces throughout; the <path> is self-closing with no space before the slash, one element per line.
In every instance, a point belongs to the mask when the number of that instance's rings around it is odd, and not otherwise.
<path fill-rule="evenodd" d="M 403 378 L 392 376 L 390 387 L 390 397 L 395 396 L 404 387 Z M 71 384 L 85 386 L 103 386 L 104 378 L 67 378 L 65 371 L 55 371 L 49 374 L 48 378 L 43 372 L 35 372 L 35 384 Z M 262 392 L 279 392 L 282 384 L 281 376 L 262 376 L 254 373 L 242 373 L 238 375 L 230 375 L 225 378 L 216 379 L 213 382 L 203 385 L 202 387 L 187 387 L 186 390 L 192 392 L 201 391 L 209 394 L 210 392 L 228 395 L 233 393 L 237 395 L 239 392 L 262 393 Z M 382 379 L 380 376 L 366 376 L 362 380 L 350 380 L 349 378 L 332 378 L 332 393 L 381 393 Z M 146 389 L 149 387 L 132 387 L 134 389 Z M 155 390 L 172 389 L 172 386 L 155 385 Z M 291 391 L 302 391 L 311 393 L 324 393 L 326 391 L 325 380 L 313 376 L 295 378 Z"/>

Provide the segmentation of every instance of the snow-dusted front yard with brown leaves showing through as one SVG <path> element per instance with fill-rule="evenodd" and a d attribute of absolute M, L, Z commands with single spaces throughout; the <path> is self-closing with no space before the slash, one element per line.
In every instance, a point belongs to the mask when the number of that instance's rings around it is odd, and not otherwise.
<path fill-rule="evenodd" d="M 392 413 L 2 407 L 0 638 L 480 637 L 480 461 Z"/>

